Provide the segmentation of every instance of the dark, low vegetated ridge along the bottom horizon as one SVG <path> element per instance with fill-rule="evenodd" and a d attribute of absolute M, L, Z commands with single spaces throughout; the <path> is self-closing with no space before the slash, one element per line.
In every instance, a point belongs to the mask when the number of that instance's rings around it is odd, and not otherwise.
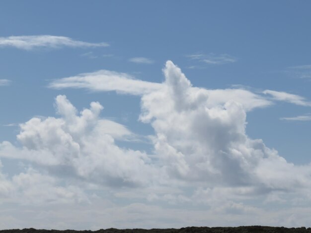
<path fill-rule="evenodd" d="M 311 233 L 311 228 L 284 228 L 284 227 L 262 227 L 262 226 L 249 226 L 249 227 L 188 227 L 181 229 L 101 229 L 98 231 L 57 231 L 57 230 L 36 230 L 30 229 L 13 229 L 2 230 L 0 233 Z"/>

